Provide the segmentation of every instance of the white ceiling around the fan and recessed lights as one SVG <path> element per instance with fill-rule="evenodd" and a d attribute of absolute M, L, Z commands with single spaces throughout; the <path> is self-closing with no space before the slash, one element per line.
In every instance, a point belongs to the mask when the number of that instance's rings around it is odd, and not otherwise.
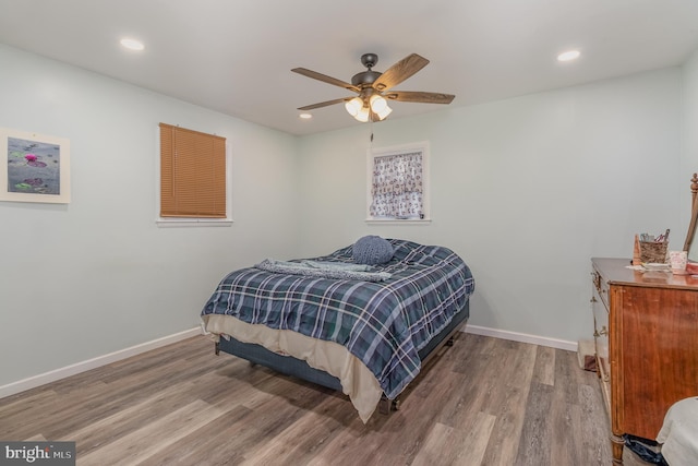
<path fill-rule="evenodd" d="M 292 68 L 350 82 L 362 53 L 385 71 L 416 52 L 431 63 L 395 89 L 459 107 L 681 64 L 698 49 L 698 0 L 0 0 L 0 43 L 311 134 L 361 123 L 342 105 L 300 120 L 352 94 Z M 570 48 L 581 58 L 558 63 Z M 390 106 L 392 120 L 447 108 Z"/>

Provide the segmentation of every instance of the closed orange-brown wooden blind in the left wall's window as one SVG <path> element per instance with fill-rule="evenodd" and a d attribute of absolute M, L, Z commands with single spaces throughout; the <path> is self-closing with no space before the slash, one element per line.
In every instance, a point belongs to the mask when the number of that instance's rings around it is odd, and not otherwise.
<path fill-rule="evenodd" d="M 160 123 L 160 217 L 226 218 L 226 139 Z"/>

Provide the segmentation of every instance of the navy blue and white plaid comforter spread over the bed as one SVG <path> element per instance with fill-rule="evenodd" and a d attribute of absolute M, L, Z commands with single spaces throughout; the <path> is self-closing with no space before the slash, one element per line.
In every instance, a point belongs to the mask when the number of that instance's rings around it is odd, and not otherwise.
<path fill-rule="evenodd" d="M 393 259 L 374 266 L 390 274 L 385 282 L 242 268 L 220 282 L 202 315 L 226 314 L 338 343 L 373 372 L 393 399 L 419 373 L 418 351 L 464 308 L 474 279 L 447 248 L 389 241 Z M 351 263 L 351 248 L 313 260 Z"/>

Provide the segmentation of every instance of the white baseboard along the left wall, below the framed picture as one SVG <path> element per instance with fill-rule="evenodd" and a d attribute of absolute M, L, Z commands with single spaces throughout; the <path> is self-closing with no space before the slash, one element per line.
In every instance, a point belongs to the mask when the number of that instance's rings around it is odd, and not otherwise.
<path fill-rule="evenodd" d="M 96 369 L 103 366 L 110 365 L 122 359 L 130 358 L 132 356 L 140 355 L 152 349 L 159 348 L 165 345 L 181 342 L 182 339 L 190 338 L 192 336 L 201 335 L 202 328 L 194 327 L 184 332 L 176 333 L 173 335 L 164 336 L 161 338 L 154 339 L 152 342 L 142 343 L 140 345 L 132 346 L 130 348 L 121 349 L 119 351 L 110 353 L 108 355 L 98 356 L 86 361 L 76 362 L 64 368 L 56 369 L 43 374 L 34 375 L 17 382 L 12 382 L 7 385 L 0 386 L 0 398 L 14 395 L 15 393 L 24 392 L 25 390 L 35 389 L 37 386 L 56 382 L 57 380 L 64 379 L 67 377 L 75 375 L 81 372 Z"/>

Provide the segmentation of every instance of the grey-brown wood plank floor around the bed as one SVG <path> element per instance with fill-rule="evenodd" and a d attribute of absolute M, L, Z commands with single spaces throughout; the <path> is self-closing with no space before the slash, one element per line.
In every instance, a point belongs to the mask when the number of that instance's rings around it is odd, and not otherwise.
<path fill-rule="evenodd" d="M 345 395 L 197 336 L 0 399 L 0 439 L 75 441 L 85 466 L 611 464 L 576 354 L 472 334 L 442 351 L 398 411 L 363 425 Z"/>

